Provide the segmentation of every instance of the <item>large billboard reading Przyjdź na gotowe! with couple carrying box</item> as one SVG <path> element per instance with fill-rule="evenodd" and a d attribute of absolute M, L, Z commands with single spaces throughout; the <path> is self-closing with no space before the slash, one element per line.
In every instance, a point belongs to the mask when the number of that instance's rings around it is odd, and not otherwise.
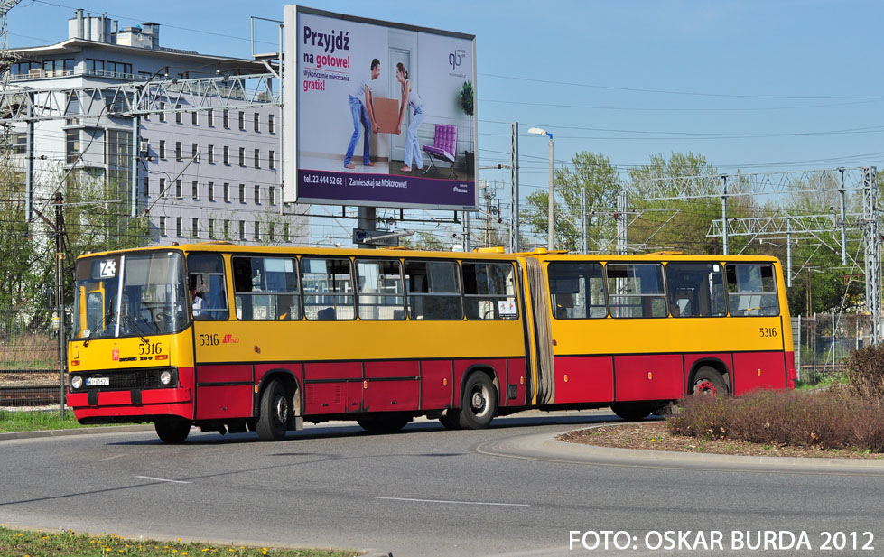
<path fill-rule="evenodd" d="M 477 207 L 475 36 L 287 5 L 285 58 L 285 201 Z"/>

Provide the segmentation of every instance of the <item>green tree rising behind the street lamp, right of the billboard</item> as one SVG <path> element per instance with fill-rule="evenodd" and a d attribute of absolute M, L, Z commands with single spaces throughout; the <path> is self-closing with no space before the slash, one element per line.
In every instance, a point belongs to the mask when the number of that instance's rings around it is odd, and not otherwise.
<path fill-rule="evenodd" d="M 574 155 L 572 168 L 559 168 L 554 172 L 554 244 L 567 250 L 576 250 L 581 245 L 581 190 L 585 190 L 583 209 L 589 215 L 586 229 L 589 251 L 611 251 L 613 244 L 608 240 L 614 237 L 616 226 L 607 213 L 617 207 L 620 191 L 617 169 L 605 155 L 587 151 Z M 593 215 L 593 212 L 606 214 Z M 545 237 L 549 221 L 549 191 L 541 189 L 529 194 L 520 218 L 535 234 Z"/>

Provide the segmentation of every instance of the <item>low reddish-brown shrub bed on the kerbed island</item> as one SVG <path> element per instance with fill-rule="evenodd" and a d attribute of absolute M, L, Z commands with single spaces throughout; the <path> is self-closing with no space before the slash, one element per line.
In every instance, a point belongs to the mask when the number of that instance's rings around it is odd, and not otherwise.
<path fill-rule="evenodd" d="M 884 452 L 884 404 L 837 391 L 755 391 L 741 398 L 691 396 L 669 431 L 821 450 Z"/>

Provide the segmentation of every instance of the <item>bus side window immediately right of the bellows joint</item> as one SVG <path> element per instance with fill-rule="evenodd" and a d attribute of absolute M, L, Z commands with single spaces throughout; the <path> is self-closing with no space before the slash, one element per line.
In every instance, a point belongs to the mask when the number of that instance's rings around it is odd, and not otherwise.
<path fill-rule="evenodd" d="M 605 283 L 599 263 L 551 263 L 550 303 L 555 319 L 598 319 L 608 316 Z"/>

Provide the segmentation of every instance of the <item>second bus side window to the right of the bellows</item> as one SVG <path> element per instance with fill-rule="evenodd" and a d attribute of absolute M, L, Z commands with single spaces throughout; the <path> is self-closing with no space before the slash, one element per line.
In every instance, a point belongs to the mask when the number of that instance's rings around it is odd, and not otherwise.
<path fill-rule="evenodd" d="M 656 263 L 608 264 L 610 316 L 622 318 L 667 317 L 663 265 Z"/>

